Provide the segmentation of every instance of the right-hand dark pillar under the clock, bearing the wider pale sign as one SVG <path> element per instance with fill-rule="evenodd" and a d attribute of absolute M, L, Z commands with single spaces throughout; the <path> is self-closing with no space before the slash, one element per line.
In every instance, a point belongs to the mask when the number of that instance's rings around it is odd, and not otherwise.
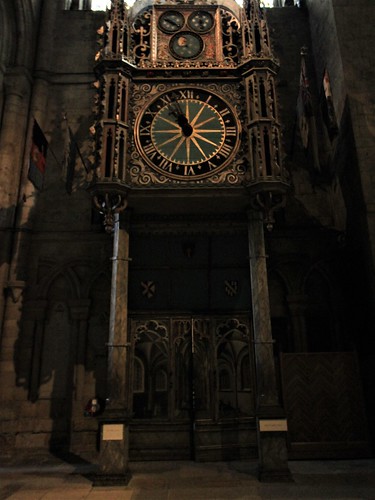
<path fill-rule="evenodd" d="M 290 481 L 286 421 L 276 385 L 263 217 L 258 211 L 251 210 L 248 213 L 248 235 L 257 381 L 259 479 Z"/>

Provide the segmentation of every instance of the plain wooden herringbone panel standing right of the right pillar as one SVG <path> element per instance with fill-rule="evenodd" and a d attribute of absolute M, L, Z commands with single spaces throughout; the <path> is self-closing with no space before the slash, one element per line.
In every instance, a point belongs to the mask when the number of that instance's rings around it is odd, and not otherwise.
<path fill-rule="evenodd" d="M 354 353 L 282 354 L 289 458 L 369 455 Z"/>

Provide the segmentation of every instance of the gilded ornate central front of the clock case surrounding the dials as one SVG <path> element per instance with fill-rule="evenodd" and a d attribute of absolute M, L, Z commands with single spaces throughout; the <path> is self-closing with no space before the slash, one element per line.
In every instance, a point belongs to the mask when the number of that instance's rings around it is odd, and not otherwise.
<path fill-rule="evenodd" d="M 175 31 L 167 31 L 161 25 L 168 13 L 179 13 L 184 22 Z M 212 19 L 212 26 L 204 31 L 192 29 L 191 20 L 200 13 L 207 13 Z M 168 4 L 154 5 L 152 9 L 140 11 L 133 22 L 132 35 L 135 44 L 135 63 L 137 69 L 132 72 L 130 91 L 130 135 L 128 183 L 132 186 L 167 187 L 173 185 L 188 186 L 240 186 L 246 173 L 246 134 L 238 135 L 238 144 L 234 148 L 236 154 L 224 168 L 215 169 L 211 176 L 195 179 L 177 178 L 153 169 L 144 160 L 144 153 L 139 147 L 139 130 L 136 127 L 137 117 L 142 115 L 158 95 L 174 89 L 204 89 L 222 99 L 233 110 L 240 123 L 245 120 L 245 91 L 238 73 L 238 46 L 235 30 L 240 23 L 235 13 L 223 9 L 219 5 L 208 4 Z M 231 28 L 229 30 L 229 28 Z M 232 32 L 228 40 L 228 30 Z M 203 49 L 192 59 L 175 57 L 170 49 L 173 37 L 179 33 L 191 32 L 202 38 Z M 142 34 L 142 36 L 141 36 Z M 229 43 L 230 42 L 230 43 Z M 236 49 L 231 48 L 236 45 Z M 138 145 L 138 146 L 137 146 Z"/>

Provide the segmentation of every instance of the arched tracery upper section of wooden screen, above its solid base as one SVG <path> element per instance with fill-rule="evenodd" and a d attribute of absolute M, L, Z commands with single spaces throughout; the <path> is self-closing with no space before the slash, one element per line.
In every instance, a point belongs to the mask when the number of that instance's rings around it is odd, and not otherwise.
<path fill-rule="evenodd" d="M 135 418 L 217 419 L 253 415 L 247 322 L 158 318 L 133 322 Z M 193 398 L 193 399 L 192 399 Z"/>

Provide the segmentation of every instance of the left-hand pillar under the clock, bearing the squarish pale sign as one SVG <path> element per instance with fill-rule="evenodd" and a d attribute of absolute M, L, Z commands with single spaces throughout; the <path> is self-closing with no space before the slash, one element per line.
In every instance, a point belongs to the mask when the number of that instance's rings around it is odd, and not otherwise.
<path fill-rule="evenodd" d="M 124 217 L 125 219 L 125 217 Z M 127 484 L 129 471 L 128 428 L 128 271 L 129 231 L 127 221 L 115 214 L 112 257 L 111 310 L 108 337 L 108 400 L 100 419 L 99 472 L 94 485 Z"/>

